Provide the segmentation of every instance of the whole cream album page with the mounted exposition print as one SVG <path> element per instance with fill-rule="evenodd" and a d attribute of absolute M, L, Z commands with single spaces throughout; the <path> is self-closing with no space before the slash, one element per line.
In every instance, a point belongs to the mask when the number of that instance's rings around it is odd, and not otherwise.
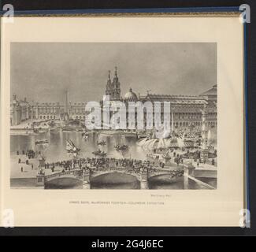
<path fill-rule="evenodd" d="M 15 226 L 239 226 L 238 12 L 20 15 L 1 32 Z"/>

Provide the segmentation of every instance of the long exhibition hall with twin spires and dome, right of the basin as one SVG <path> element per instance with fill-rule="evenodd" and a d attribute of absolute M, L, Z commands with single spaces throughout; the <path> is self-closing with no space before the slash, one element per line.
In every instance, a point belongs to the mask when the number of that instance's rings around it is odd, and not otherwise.
<path fill-rule="evenodd" d="M 116 85 L 118 83 L 118 85 Z M 126 107 L 130 102 L 161 102 L 161 123 L 164 121 L 164 102 L 170 102 L 170 127 L 174 130 L 181 129 L 195 129 L 200 131 L 202 128 L 202 113 L 206 117 L 206 127 L 216 128 L 217 127 L 217 85 L 214 85 L 210 90 L 203 92 L 199 95 L 136 95 L 132 88 L 121 97 L 121 84 L 117 76 L 117 68 L 115 69 L 115 76 L 113 81 L 109 77 L 106 85 L 105 95 L 109 95 L 111 102 L 124 102 Z M 135 110 L 136 111 L 136 110 Z M 111 118 L 110 113 L 110 118 Z M 144 114 L 144 125 L 146 126 L 147 113 Z M 127 117 L 128 118 L 128 114 Z M 136 118 L 136 112 L 135 112 Z M 154 118 L 154 107 L 153 107 L 153 118 Z M 111 119 L 110 119 L 111 120 Z M 135 121 L 135 127 L 137 122 Z M 128 122 L 127 122 L 128 126 Z M 154 120 L 153 120 L 154 127 Z"/>

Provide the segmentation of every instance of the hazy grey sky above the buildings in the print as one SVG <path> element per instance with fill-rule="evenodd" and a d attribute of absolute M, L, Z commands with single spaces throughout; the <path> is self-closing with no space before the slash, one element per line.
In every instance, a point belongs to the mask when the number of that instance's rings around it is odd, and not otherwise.
<path fill-rule="evenodd" d="M 217 43 L 11 43 L 11 95 L 99 101 L 117 66 L 121 95 L 199 95 L 217 84 Z"/>

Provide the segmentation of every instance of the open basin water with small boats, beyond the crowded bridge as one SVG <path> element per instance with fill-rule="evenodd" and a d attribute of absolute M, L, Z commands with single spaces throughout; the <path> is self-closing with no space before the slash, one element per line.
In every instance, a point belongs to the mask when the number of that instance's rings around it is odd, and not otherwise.
<path fill-rule="evenodd" d="M 48 139 L 49 144 L 35 145 L 37 139 Z M 136 146 L 135 137 L 124 137 L 121 135 L 103 135 L 92 133 L 89 139 L 84 140 L 81 132 L 47 132 L 39 135 L 11 135 L 10 136 L 10 151 L 11 154 L 16 154 L 19 150 L 35 150 L 41 151 L 46 157 L 46 162 L 68 160 L 72 158 L 72 154 L 68 154 L 65 150 L 65 139 L 71 139 L 75 145 L 80 148 L 78 158 L 92 158 L 95 150 L 103 150 L 109 158 L 136 158 L 146 159 L 146 155 Z M 99 146 L 97 141 L 106 141 L 105 146 Z M 114 146 L 117 144 L 126 144 L 129 146 L 128 152 L 117 152 Z"/>

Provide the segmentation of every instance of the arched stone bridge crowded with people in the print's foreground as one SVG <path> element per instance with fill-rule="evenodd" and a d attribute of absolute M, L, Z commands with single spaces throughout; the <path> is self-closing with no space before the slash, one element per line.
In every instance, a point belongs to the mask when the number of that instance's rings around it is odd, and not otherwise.
<path fill-rule="evenodd" d="M 148 188 L 148 180 L 153 176 L 169 175 L 171 179 L 176 180 L 177 176 L 184 176 L 184 188 L 188 188 L 188 180 L 194 180 L 196 183 L 201 184 L 203 187 L 213 189 L 207 183 L 203 183 L 201 178 L 217 178 L 217 169 L 213 167 L 195 168 L 192 163 L 174 165 L 169 164 L 161 167 L 157 162 L 150 161 L 135 161 L 129 163 L 122 163 L 121 159 L 106 158 L 100 159 L 100 163 L 85 161 L 83 166 L 78 167 L 75 165 L 71 170 L 63 172 L 54 172 L 45 176 L 43 170 L 36 177 L 37 185 L 44 187 L 45 183 L 55 180 L 57 178 L 74 178 L 83 182 L 83 188 L 90 189 L 91 179 L 107 173 L 123 173 L 134 176 L 140 182 L 141 189 Z M 85 166 L 84 166 L 85 165 Z M 88 167 L 90 166 L 90 168 Z"/>

